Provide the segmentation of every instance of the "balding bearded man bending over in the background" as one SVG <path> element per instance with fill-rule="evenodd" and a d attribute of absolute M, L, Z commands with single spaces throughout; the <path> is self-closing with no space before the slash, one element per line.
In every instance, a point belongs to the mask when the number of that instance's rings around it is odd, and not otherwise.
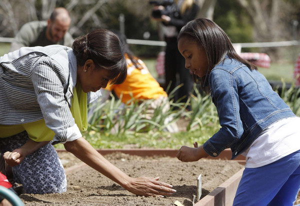
<path fill-rule="evenodd" d="M 47 21 L 31 21 L 25 23 L 10 45 L 9 51 L 22 46 L 46 46 L 61 44 L 71 47 L 73 38 L 67 31 L 71 18 L 63 7 L 57 7 Z"/>

